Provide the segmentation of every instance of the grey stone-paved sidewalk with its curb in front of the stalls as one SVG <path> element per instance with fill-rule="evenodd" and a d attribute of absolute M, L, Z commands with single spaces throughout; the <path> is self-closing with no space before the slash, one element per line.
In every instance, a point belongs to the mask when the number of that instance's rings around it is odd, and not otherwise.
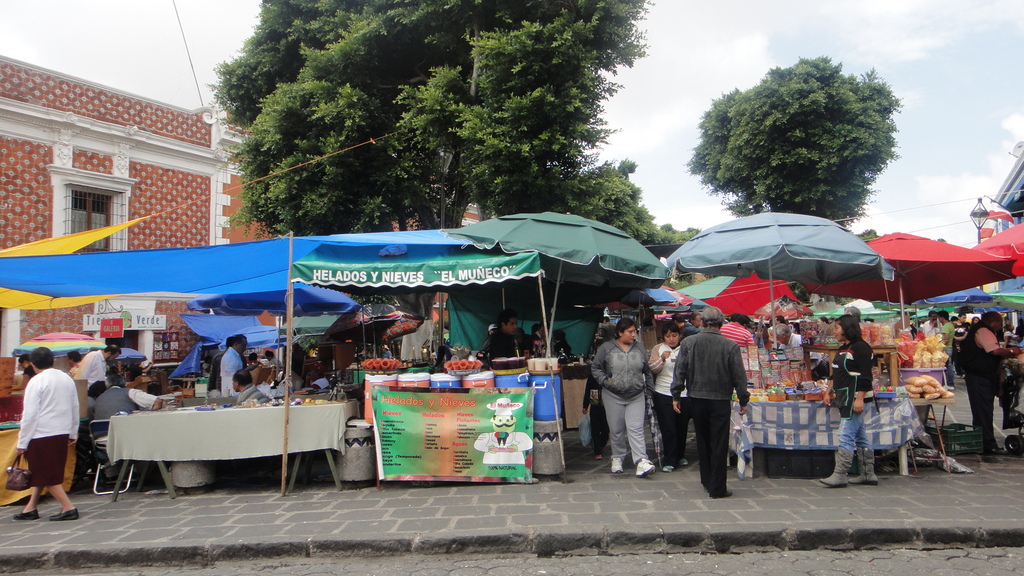
<path fill-rule="evenodd" d="M 962 388 L 963 389 L 963 388 Z M 966 399 L 953 411 L 963 416 Z M 961 421 L 964 418 L 961 417 Z M 615 553 L 742 551 L 872 546 L 1019 546 L 1024 541 L 1024 458 L 957 461 L 973 475 L 895 471 L 877 487 L 827 490 L 809 480 L 735 480 L 732 498 L 712 500 L 695 465 L 637 479 L 610 475 L 565 435 L 568 484 L 386 483 L 334 490 L 331 482 L 280 496 L 262 486 L 220 486 L 171 500 L 166 494 L 73 494 L 77 522 L 0 519 L 0 571 L 95 566 L 197 566 L 326 556 L 453 551 Z M 689 448 L 692 451 L 692 446 Z M 147 488 L 160 488 L 151 481 Z"/>

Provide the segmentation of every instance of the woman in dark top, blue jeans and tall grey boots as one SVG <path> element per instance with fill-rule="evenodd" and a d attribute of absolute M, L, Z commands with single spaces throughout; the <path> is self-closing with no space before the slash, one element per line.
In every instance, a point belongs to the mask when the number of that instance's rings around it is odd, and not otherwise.
<path fill-rule="evenodd" d="M 836 392 L 836 407 L 842 418 L 839 425 L 839 450 L 836 451 L 836 470 L 820 482 L 828 488 L 843 488 L 848 484 L 847 472 L 853 463 L 853 451 L 858 450 L 863 465 L 861 476 L 849 484 L 879 483 L 874 476 L 874 451 L 867 444 L 864 426 L 864 406 L 871 402 L 871 346 L 860 337 L 860 324 L 850 315 L 839 317 L 835 325 L 839 352 L 833 360 L 830 390 Z M 825 405 L 830 405 L 830 395 L 825 394 Z"/>

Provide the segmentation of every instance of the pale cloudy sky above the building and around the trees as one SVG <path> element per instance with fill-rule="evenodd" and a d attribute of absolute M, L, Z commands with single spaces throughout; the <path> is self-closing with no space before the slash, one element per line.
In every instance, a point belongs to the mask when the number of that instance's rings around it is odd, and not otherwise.
<path fill-rule="evenodd" d="M 186 109 L 209 106 L 215 67 L 258 24 L 258 0 L 0 0 L 0 54 Z M 600 151 L 638 163 L 657 223 L 706 229 L 731 216 L 686 164 L 715 98 L 772 68 L 828 56 L 873 69 L 903 102 L 894 161 L 879 177 L 873 229 L 976 244 L 969 213 L 994 197 L 1024 140 L 1024 2 L 990 0 L 655 0 L 647 56 L 615 77 L 615 130 Z M 193 78 L 189 54 L 200 87 Z M 986 203 L 988 200 L 986 200 Z"/>

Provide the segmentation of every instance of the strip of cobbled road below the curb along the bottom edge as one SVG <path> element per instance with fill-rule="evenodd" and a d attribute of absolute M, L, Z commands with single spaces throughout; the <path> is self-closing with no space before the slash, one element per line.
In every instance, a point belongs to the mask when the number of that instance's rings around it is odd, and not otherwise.
<path fill-rule="evenodd" d="M 1024 548 L 946 550 L 861 550 L 749 552 L 742 554 L 628 554 L 537 558 L 528 554 L 402 556 L 390 559 L 282 560 L 223 563 L 212 568 L 158 568 L 126 571 L 31 572 L 67 576 L 857 576 L 899 574 L 914 576 L 1019 576 Z"/>

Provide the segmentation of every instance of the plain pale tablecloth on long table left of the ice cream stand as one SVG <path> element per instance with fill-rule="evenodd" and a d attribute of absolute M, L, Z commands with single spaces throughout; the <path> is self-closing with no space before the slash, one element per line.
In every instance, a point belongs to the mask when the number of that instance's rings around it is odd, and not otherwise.
<path fill-rule="evenodd" d="M 293 406 L 288 451 L 344 451 L 345 423 L 358 403 Z M 136 412 L 111 418 L 112 460 L 236 460 L 273 456 L 284 449 L 285 408 Z"/>

